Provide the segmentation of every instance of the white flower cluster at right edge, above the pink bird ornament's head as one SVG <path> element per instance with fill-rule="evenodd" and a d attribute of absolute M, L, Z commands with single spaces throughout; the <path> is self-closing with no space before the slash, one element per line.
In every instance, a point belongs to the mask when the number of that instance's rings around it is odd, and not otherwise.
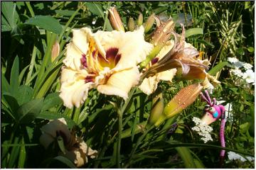
<path fill-rule="evenodd" d="M 236 77 L 245 80 L 247 84 L 254 84 L 255 83 L 255 72 L 252 70 L 252 64 L 247 62 L 240 62 L 237 58 L 228 57 L 228 62 L 232 64 L 232 67 L 235 69 L 230 69 L 230 73 L 235 75 Z M 241 69 L 243 68 L 245 72 L 242 72 Z"/>

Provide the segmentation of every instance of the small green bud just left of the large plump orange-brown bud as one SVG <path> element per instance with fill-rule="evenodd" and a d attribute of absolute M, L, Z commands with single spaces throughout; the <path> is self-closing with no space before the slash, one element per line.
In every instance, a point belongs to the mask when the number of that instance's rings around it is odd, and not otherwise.
<path fill-rule="evenodd" d="M 163 94 L 156 95 L 153 98 L 152 106 L 151 106 L 151 113 L 149 117 L 149 125 L 154 125 L 159 118 L 161 117 L 161 114 L 164 111 L 164 98 Z"/>

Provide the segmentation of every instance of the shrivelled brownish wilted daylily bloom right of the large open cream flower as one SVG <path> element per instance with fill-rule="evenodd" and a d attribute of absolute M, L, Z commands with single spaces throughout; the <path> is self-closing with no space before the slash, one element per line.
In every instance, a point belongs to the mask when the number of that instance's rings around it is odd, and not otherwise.
<path fill-rule="evenodd" d="M 142 77 L 151 77 L 158 72 L 164 72 L 169 69 L 177 68 L 176 77 L 182 79 L 205 79 L 206 65 L 201 60 L 197 60 L 198 51 L 191 44 L 185 42 L 185 30 L 183 28 L 181 38 L 178 41 L 178 35 L 174 35 L 174 47 L 164 56 L 152 65 Z"/>

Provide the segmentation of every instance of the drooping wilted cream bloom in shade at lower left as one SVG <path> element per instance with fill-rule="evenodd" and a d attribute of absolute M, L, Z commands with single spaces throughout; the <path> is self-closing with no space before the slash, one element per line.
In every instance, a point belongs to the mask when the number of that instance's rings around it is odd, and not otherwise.
<path fill-rule="evenodd" d="M 58 152 L 58 154 L 67 157 L 78 167 L 88 162 L 87 157 L 95 158 L 97 156 L 96 150 L 87 147 L 86 143 L 80 137 L 77 137 L 74 132 L 68 130 L 64 118 L 50 120 L 48 124 L 41 128 L 41 131 L 43 134 L 40 137 L 40 143 L 46 149 L 57 137 L 62 137 L 65 145 L 65 153 Z"/>

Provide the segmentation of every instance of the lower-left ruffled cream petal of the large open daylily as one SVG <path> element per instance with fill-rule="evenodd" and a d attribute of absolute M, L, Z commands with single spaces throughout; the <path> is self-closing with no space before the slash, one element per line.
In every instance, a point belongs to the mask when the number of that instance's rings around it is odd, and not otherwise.
<path fill-rule="evenodd" d="M 60 98 L 64 106 L 68 108 L 79 107 L 87 98 L 88 90 L 92 88 L 92 82 L 85 83 L 86 72 L 76 72 L 72 69 L 63 69 L 60 82 Z"/>

